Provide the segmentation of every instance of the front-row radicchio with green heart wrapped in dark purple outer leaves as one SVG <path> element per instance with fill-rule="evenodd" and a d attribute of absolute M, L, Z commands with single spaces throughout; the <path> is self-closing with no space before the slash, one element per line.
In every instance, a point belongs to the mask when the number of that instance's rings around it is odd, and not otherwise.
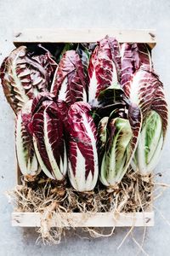
<path fill-rule="evenodd" d="M 115 69 L 115 73 L 117 70 L 120 71 Z M 116 78 L 120 78 L 119 73 Z M 127 172 L 142 126 L 142 113 L 138 102 L 129 95 L 128 98 L 125 96 L 125 88 L 121 90 L 119 81 L 117 79 L 115 84 L 99 93 L 100 108 L 95 109 L 93 106 L 96 124 L 99 117 L 101 118 L 98 126 L 99 166 L 101 182 L 106 186 L 120 183 Z M 130 87 L 129 84 L 128 86 Z"/>

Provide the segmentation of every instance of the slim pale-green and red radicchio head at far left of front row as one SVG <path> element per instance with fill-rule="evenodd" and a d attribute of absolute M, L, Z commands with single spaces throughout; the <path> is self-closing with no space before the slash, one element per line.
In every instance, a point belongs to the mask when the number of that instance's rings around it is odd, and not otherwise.
<path fill-rule="evenodd" d="M 31 103 L 32 100 L 27 102 L 25 107 L 17 114 L 15 126 L 17 160 L 20 172 L 28 179 L 37 176 L 41 171 L 34 152 L 31 134 L 28 131 L 28 124 L 31 121 Z"/>

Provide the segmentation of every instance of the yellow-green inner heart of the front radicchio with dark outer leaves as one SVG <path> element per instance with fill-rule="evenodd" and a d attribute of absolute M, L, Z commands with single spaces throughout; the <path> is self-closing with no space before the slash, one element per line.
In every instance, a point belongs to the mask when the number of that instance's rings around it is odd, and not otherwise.
<path fill-rule="evenodd" d="M 127 119 L 111 119 L 106 141 L 105 153 L 101 163 L 100 180 L 105 186 L 120 183 L 131 158 L 130 141 L 133 136 Z"/>

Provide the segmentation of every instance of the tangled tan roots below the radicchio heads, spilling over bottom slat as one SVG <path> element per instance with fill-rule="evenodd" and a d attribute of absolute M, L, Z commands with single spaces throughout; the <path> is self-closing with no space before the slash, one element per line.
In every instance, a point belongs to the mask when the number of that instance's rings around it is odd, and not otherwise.
<path fill-rule="evenodd" d="M 128 170 L 122 182 L 114 189 L 106 189 L 101 183 L 91 192 L 77 192 L 70 183 L 59 185 L 42 174 L 35 181 L 21 178 L 13 193 L 15 212 L 39 212 L 41 224 L 38 233 L 42 241 L 59 243 L 65 229 L 74 228 L 74 223 L 65 226 L 65 212 L 83 212 L 88 217 L 94 212 L 147 212 L 152 203 L 152 177 L 141 177 L 138 172 Z M 51 226 L 51 219 L 58 214 L 58 227 Z M 103 236 L 104 230 L 90 229 L 90 236 Z M 113 230 L 113 229 L 111 229 Z M 112 234 L 112 231 L 111 231 Z M 111 235 L 109 234 L 109 236 Z"/>

